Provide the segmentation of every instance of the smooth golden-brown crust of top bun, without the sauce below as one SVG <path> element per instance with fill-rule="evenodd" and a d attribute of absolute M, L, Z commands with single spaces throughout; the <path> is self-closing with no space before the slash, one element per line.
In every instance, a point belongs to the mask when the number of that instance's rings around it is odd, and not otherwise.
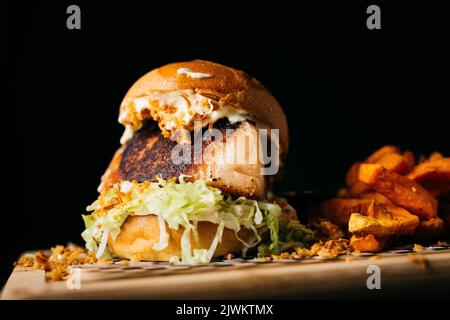
<path fill-rule="evenodd" d="M 196 78 L 179 73 L 183 68 L 209 76 Z M 264 126 L 279 129 L 280 155 L 284 159 L 289 142 L 288 125 L 278 101 L 261 83 L 246 73 L 209 61 L 171 63 L 150 71 L 129 89 L 122 102 L 119 119 L 126 117 L 126 106 L 134 98 L 146 96 L 149 92 L 179 90 L 193 90 L 214 96 L 223 105 L 245 110 Z"/>

